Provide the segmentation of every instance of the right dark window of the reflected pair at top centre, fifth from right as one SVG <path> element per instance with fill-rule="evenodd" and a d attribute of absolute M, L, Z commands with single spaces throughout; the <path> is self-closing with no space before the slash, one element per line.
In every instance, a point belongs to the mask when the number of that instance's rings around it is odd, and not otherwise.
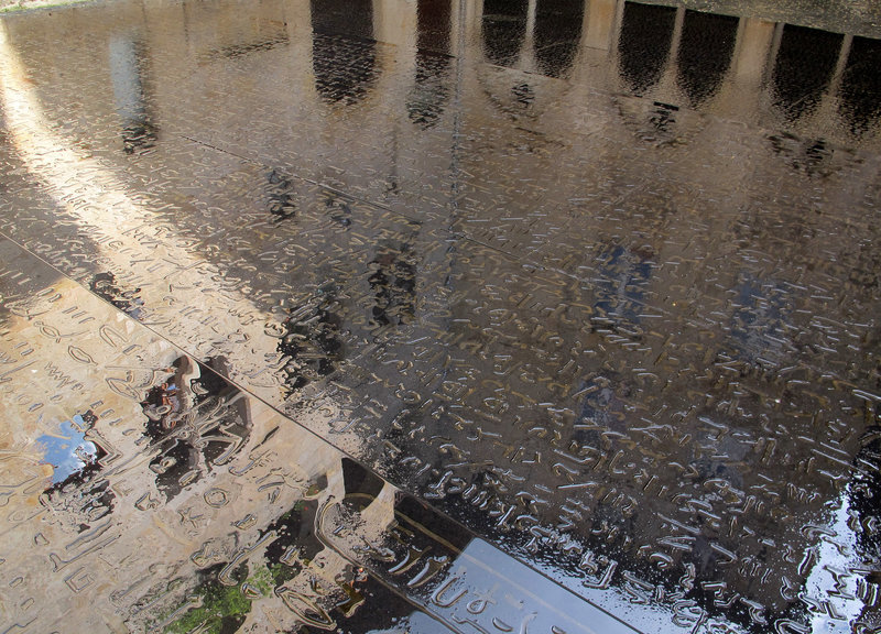
<path fill-rule="evenodd" d="M 584 0 L 539 0 L 535 9 L 535 61 L 551 77 L 572 68 L 581 39 Z"/>

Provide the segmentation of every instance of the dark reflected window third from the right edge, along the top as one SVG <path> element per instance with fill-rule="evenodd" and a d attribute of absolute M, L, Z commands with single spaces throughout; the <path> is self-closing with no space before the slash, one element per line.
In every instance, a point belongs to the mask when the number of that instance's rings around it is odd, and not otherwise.
<path fill-rule="evenodd" d="M 693 108 L 713 97 L 731 64 L 737 39 L 737 18 L 686 11 L 676 84 Z"/>

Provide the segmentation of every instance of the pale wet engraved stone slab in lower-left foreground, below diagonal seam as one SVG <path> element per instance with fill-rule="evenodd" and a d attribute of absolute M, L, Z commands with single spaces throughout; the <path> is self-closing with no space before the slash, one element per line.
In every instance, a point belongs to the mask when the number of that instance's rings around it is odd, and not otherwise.
<path fill-rule="evenodd" d="M 7 631 L 634 632 L 0 253 Z"/>

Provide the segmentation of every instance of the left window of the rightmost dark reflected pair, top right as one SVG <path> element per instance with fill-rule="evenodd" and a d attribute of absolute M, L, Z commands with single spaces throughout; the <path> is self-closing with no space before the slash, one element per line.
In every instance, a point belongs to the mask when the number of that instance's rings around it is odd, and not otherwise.
<path fill-rule="evenodd" d="M 786 24 L 774 64 L 774 106 L 787 121 L 814 111 L 838 62 L 844 36 Z"/>

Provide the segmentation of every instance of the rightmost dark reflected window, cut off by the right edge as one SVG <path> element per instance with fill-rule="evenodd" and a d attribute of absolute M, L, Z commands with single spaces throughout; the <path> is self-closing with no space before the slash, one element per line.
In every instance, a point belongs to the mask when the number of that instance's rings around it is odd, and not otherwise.
<path fill-rule="evenodd" d="M 881 116 L 881 41 L 855 37 L 841 78 L 839 111 L 855 134 L 862 134 Z"/>

